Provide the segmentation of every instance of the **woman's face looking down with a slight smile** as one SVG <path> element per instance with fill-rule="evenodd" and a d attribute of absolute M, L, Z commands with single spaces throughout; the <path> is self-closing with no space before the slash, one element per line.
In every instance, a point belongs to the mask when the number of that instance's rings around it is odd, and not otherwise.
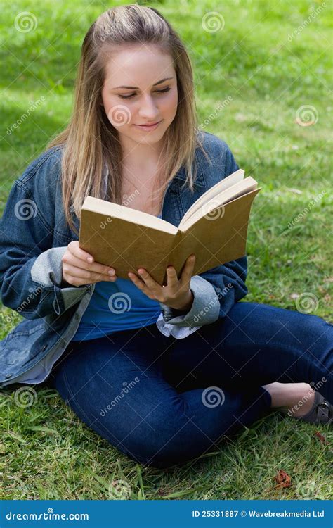
<path fill-rule="evenodd" d="M 102 89 L 107 118 L 129 143 L 155 144 L 174 120 L 178 91 L 171 56 L 156 46 L 121 48 L 106 64 Z M 155 127 L 140 127 L 159 122 Z M 127 141 L 126 141 L 127 139 Z"/>

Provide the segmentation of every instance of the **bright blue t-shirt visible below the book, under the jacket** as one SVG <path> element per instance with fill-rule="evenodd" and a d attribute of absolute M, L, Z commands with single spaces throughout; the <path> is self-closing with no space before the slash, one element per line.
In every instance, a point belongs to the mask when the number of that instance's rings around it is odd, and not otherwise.
<path fill-rule="evenodd" d="M 162 218 L 162 215 L 157 215 Z M 96 339 L 133 328 L 152 325 L 161 307 L 138 289 L 131 279 L 96 282 L 93 295 L 72 341 Z"/>

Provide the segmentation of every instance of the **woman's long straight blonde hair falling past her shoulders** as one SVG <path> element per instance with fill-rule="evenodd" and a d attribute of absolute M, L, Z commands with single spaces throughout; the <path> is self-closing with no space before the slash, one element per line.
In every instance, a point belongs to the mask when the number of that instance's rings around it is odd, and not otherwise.
<path fill-rule="evenodd" d="M 197 134 L 192 65 L 185 46 L 155 8 L 130 4 L 108 9 L 84 37 L 70 123 L 46 147 L 63 146 L 63 207 L 67 223 L 75 232 L 71 213 L 74 211 L 77 218 L 81 217 L 80 209 L 86 196 L 122 203 L 122 148 L 117 129 L 100 104 L 106 75 L 105 58 L 112 47 L 142 43 L 155 44 L 168 53 L 174 61 L 177 77 L 178 106 L 163 137 L 160 181 L 166 185 L 181 165 L 185 165 L 185 184 L 193 191 L 197 175 L 195 149 L 197 146 L 203 152 L 204 149 L 200 134 Z M 105 166 L 108 170 L 106 193 Z"/>

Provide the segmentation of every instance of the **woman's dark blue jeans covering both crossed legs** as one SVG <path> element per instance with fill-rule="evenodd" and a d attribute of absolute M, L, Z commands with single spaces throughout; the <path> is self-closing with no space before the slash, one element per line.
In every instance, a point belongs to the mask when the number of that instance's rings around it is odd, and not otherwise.
<path fill-rule="evenodd" d="M 332 344 L 317 315 L 242 301 L 185 339 L 153 324 L 72 341 L 48 381 L 112 446 L 162 468 L 268 415 L 264 384 L 319 384 L 332 403 Z"/>

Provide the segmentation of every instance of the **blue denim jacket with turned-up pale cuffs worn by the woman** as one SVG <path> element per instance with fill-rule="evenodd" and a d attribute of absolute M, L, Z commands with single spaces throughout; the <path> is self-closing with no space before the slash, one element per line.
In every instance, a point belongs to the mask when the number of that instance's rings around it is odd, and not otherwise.
<path fill-rule="evenodd" d="M 178 226 L 185 212 L 207 189 L 238 169 L 228 145 L 208 132 L 195 153 L 197 177 L 192 192 L 182 166 L 165 189 L 162 218 Z M 1 300 L 20 313 L 20 321 L 0 341 L 0 386 L 46 379 L 77 331 L 95 284 L 63 282 L 62 256 L 78 240 L 65 222 L 61 199 L 63 147 L 42 153 L 15 180 L 0 220 Z M 74 215 L 79 231 L 79 219 Z M 191 278 L 194 300 L 188 313 L 160 303 L 156 322 L 165 335 L 186 337 L 226 316 L 247 294 L 247 256 Z"/>

